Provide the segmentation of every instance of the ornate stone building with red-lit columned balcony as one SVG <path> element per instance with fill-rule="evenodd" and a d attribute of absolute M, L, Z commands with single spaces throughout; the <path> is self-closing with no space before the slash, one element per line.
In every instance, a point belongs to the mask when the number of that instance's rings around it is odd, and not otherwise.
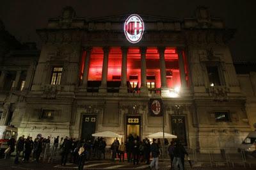
<path fill-rule="evenodd" d="M 184 20 L 140 15 L 145 31 L 131 43 L 124 34 L 127 17 L 85 19 L 66 7 L 36 30 L 40 56 L 27 65 L 26 93 L 1 92 L 19 98 L 1 100 L 2 125 L 12 114 L 19 135 L 84 138 L 110 130 L 141 139 L 164 125 L 202 151 L 240 144 L 252 131 L 256 109 L 255 83 L 244 80 L 256 79 L 255 72 L 236 73 L 228 47 L 234 29 L 204 7 Z M 152 99 L 162 102 L 162 116 L 150 112 Z"/>

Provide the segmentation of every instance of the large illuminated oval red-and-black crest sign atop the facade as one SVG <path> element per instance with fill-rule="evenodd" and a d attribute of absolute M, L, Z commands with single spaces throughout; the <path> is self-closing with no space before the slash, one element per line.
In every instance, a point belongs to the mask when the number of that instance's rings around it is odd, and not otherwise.
<path fill-rule="evenodd" d="M 130 15 L 124 23 L 124 34 L 131 43 L 140 42 L 144 32 L 144 23 L 139 15 Z"/>

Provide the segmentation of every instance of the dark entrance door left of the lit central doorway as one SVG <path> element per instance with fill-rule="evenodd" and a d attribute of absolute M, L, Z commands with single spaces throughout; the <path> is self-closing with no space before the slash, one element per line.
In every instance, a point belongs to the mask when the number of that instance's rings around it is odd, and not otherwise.
<path fill-rule="evenodd" d="M 83 115 L 81 139 L 92 139 L 95 133 L 97 117 L 95 115 Z"/>

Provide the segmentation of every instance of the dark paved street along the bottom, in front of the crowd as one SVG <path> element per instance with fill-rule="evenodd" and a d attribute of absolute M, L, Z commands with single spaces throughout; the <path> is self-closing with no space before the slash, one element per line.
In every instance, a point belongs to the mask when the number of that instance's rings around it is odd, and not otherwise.
<path fill-rule="evenodd" d="M 28 162 L 28 163 L 21 163 L 19 165 L 13 164 L 13 158 L 9 160 L 0 160 L 0 169 L 77 169 L 75 164 L 67 164 L 66 166 L 60 166 L 60 164 L 43 164 L 43 163 L 36 163 L 36 162 Z M 84 165 L 84 169 L 149 169 L 146 164 L 139 164 L 138 166 L 133 166 L 132 164 L 119 163 L 119 162 L 110 162 L 109 160 L 92 160 L 90 162 L 86 162 Z M 160 162 L 159 169 L 170 169 L 170 164 L 168 161 Z M 189 167 L 188 162 L 186 162 L 186 169 L 191 169 Z M 228 168 L 228 167 L 210 167 L 210 165 L 204 164 L 203 167 L 193 167 L 192 169 L 255 169 L 254 168 L 243 168 L 242 166 L 237 165 L 236 168 Z"/>

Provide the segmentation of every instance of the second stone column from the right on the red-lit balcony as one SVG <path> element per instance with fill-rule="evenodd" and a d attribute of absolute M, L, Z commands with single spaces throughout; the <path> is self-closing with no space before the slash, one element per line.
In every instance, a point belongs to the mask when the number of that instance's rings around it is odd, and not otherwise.
<path fill-rule="evenodd" d="M 166 86 L 166 67 L 164 60 L 165 47 L 158 47 L 159 58 L 160 58 L 160 73 L 161 73 L 161 89 L 167 88 Z"/>

